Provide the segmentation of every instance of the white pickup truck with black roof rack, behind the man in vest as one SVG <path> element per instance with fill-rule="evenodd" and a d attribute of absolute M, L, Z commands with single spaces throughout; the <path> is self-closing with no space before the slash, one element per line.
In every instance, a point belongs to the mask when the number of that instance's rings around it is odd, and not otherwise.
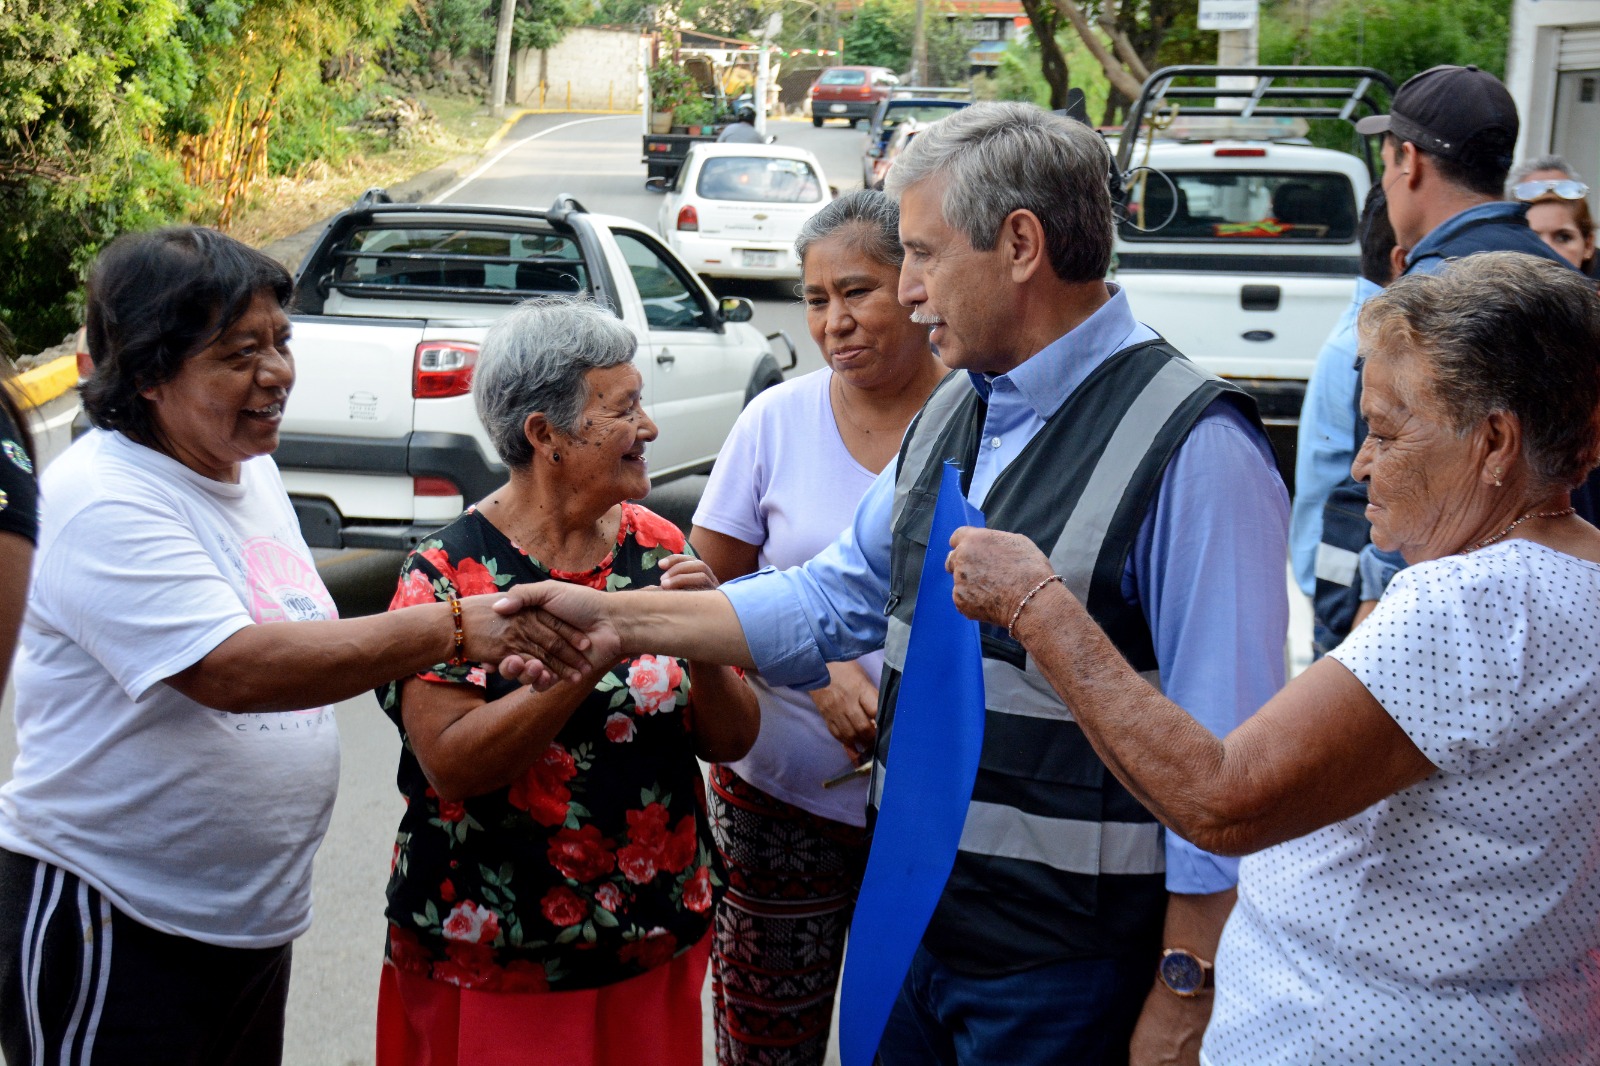
<path fill-rule="evenodd" d="M 1355 288 L 1373 182 L 1370 144 L 1314 147 L 1306 120 L 1378 112 L 1374 90 L 1394 83 L 1365 67 L 1166 67 L 1115 144 L 1114 280 L 1141 322 L 1256 397 L 1291 487 L 1301 400 Z"/>

